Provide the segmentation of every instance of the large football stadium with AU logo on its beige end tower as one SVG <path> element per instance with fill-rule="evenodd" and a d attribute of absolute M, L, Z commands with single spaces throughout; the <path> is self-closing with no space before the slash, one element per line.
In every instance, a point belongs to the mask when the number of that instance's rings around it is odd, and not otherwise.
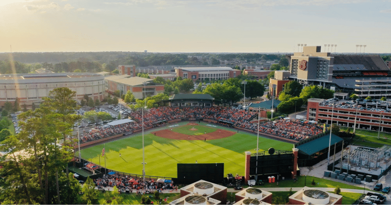
<path fill-rule="evenodd" d="M 379 55 L 331 55 L 320 46 L 304 46 L 290 58 L 290 79 L 356 93 L 359 97 L 391 96 L 391 71 Z"/>

